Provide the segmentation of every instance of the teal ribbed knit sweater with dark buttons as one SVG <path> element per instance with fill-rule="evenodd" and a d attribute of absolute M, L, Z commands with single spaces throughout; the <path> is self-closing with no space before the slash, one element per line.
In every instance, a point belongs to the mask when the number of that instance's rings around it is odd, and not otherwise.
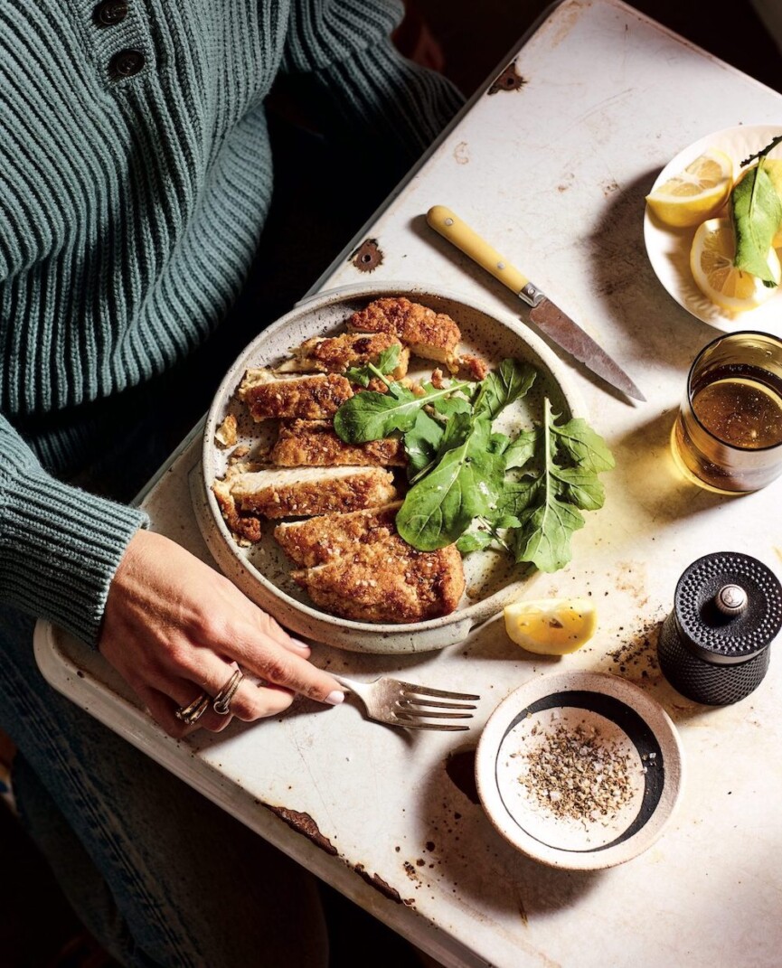
<path fill-rule="evenodd" d="M 104 5 L 105 8 L 105 5 Z M 114 12 L 117 5 L 113 4 Z M 144 515 L 51 476 L 30 417 L 160 374 L 225 314 L 268 210 L 284 72 L 412 161 L 459 106 L 383 0 L 0 0 L 0 596 L 97 640 Z M 116 55 L 132 51 L 131 73 Z"/>

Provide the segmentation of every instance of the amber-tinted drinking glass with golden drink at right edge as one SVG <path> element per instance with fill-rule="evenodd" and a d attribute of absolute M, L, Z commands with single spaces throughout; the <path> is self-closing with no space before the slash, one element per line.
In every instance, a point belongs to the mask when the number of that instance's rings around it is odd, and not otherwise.
<path fill-rule="evenodd" d="M 671 436 L 678 468 L 718 494 L 766 487 L 782 472 L 782 341 L 749 330 L 696 356 Z"/>

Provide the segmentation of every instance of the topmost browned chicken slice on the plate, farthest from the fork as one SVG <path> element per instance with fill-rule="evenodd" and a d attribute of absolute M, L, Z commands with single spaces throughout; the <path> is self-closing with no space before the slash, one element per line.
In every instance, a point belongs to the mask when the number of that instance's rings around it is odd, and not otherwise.
<path fill-rule="evenodd" d="M 376 299 L 353 313 L 347 328 L 354 333 L 391 333 L 416 356 L 444 363 L 451 373 L 459 369 L 459 326 L 445 313 L 410 302 L 405 296 Z"/>

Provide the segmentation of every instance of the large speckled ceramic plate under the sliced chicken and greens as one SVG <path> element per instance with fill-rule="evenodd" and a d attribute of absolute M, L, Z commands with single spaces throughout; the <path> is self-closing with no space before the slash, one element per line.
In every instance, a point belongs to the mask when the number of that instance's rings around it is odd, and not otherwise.
<path fill-rule="evenodd" d="M 465 557 L 466 594 L 451 615 L 411 624 L 374 624 L 338 619 L 318 610 L 306 592 L 290 579 L 293 567 L 271 535 L 249 548 L 240 547 L 226 528 L 211 491 L 215 479 L 226 473 L 232 448 L 220 447 L 215 431 L 227 413 L 239 425 L 237 445 L 253 450 L 262 446 L 263 434 L 273 432 L 273 421 L 254 423 L 235 398 L 235 391 L 250 367 L 275 366 L 290 349 L 313 336 L 345 330 L 346 319 L 382 295 L 406 295 L 437 312 L 448 313 L 462 330 L 462 351 L 482 356 L 490 366 L 504 357 L 528 360 L 538 378 L 524 400 L 503 412 L 504 429 L 528 427 L 539 419 L 543 396 L 566 418 L 584 416 L 580 396 L 569 385 L 567 371 L 552 351 L 511 314 L 490 313 L 477 302 L 453 292 L 416 284 L 394 283 L 345 287 L 300 304 L 269 326 L 236 360 L 221 384 L 206 420 L 200 469 L 191 477 L 196 517 L 214 558 L 226 574 L 258 605 L 299 635 L 355 651 L 413 652 L 441 649 L 463 641 L 470 628 L 491 618 L 518 596 L 532 574 L 514 566 L 496 552 L 473 552 Z M 412 365 L 415 363 L 415 367 Z M 418 369 L 416 369 L 416 367 Z M 432 364 L 411 361 L 410 375 L 431 374 Z M 497 429 L 503 429 L 499 423 Z M 252 455 L 251 455 L 252 456 Z"/>

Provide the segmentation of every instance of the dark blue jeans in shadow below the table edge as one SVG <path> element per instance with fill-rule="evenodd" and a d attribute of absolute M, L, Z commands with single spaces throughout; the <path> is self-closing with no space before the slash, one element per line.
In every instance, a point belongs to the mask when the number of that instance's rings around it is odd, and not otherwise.
<path fill-rule="evenodd" d="M 0 728 L 25 827 L 121 964 L 327 963 L 314 880 L 41 676 L 34 620 L 0 609 Z"/>

